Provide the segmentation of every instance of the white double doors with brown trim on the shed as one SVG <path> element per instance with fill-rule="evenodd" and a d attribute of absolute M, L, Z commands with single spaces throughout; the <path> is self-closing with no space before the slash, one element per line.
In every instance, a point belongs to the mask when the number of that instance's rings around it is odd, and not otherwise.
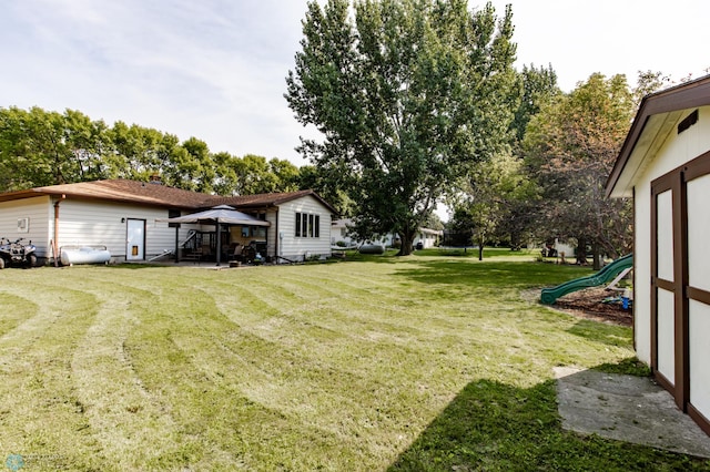
<path fill-rule="evenodd" d="M 651 367 L 710 434 L 710 152 L 651 183 Z"/>

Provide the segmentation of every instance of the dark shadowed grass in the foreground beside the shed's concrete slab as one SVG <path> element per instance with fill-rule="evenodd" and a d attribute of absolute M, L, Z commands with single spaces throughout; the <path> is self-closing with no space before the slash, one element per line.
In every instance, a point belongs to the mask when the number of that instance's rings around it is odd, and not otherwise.
<path fill-rule="evenodd" d="M 561 429 L 555 381 L 466 386 L 389 471 L 707 470 L 710 463 Z"/>

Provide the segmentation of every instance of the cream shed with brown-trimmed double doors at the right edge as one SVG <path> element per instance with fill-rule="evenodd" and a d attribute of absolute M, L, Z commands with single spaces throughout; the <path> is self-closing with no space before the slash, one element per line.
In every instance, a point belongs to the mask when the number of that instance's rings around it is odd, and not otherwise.
<path fill-rule="evenodd" d="M 633 197 L 638 358 L 710 434 L 710 75 L 641 101 L 607 195 Z"/>

